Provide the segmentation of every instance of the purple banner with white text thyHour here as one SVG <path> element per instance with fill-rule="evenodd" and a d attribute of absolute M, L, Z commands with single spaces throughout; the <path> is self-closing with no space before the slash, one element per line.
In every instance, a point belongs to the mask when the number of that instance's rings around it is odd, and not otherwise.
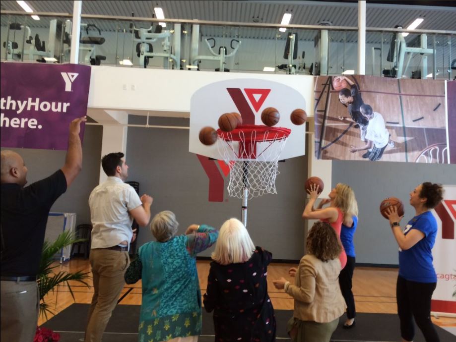
<path fill-rule="evenodd" d="M 69 123 L 87 113 L 90 66 L 0 65 L 1 147 L 66 150 Z"/>

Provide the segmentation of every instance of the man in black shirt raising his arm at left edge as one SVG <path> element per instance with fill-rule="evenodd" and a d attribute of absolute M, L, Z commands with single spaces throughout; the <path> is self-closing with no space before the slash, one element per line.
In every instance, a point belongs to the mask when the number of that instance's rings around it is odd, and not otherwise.
<path fill-rule="evenodd" d="M 39 313 L 36 277 L 48 214 L 82 168 L 80 123 L 69 126 L 65 165 L 27 187 L 22 157 L 1 151 L 1 340 L 32 342 Z"/>

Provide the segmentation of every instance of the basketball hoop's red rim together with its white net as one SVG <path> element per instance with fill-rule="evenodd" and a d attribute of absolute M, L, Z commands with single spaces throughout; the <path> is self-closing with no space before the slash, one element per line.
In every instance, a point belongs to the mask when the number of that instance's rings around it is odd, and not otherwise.
<path fill-rule="evenodd" d="M 230 167 L 228 193 L 251 199 L 277 193 L 277 163 L 291 129 L 241 125 L 231 132 L 217 130 L 217 148 Z"/>

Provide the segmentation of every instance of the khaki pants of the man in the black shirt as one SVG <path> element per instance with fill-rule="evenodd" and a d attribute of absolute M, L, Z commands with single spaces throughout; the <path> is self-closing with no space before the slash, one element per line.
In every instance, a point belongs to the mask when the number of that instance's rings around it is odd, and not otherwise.
<path fill-rule="evenodd" d="M 37 282 L 0 283 L 1 341 L 32 342 L 40 310 Z"/>

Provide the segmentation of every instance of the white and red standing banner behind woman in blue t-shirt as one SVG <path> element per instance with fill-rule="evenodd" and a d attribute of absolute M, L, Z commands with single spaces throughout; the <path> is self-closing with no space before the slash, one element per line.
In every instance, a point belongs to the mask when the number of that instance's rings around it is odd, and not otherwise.
<path fill-rule="evenodd" d="M 432 255 L 437 287 L 431 311 L 456 316 L 456 185 L 443 185 L 443 201 L 432 210 L 437 220 L 437 236 Z"/>

